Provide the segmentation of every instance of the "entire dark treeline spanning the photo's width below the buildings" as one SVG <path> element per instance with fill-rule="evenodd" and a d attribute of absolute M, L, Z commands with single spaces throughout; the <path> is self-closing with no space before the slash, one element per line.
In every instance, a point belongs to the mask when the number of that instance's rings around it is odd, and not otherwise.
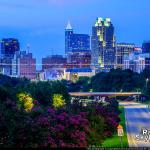
<path fill-rule="evenodd" d="M 143 94 L 150 96 L 150 70 L 144 70 L 139 74 L 131 70 L 112 69 L 108 73 L 98 73 L 92 78 L 80 77 L 75 83 L 66 80 L 31 83 L 26 78 L 16 79 L 0 75 L 0 85 L 7 87 L 10 94 L 14 94 L 13 91 L 26 91 L 31 93 L 35 99 L 42 99 L 42 101 L 43 99 L 49 99 L 49 93 L 51 95 L 52 93 L 60 93 L 66 99 L 69 99 L 67 92 L 76 91 L 141 91 Z M 12 88 L 16 90 L 12 90 Z M 43 95 L 43 93 L 47 94 Z"/>

